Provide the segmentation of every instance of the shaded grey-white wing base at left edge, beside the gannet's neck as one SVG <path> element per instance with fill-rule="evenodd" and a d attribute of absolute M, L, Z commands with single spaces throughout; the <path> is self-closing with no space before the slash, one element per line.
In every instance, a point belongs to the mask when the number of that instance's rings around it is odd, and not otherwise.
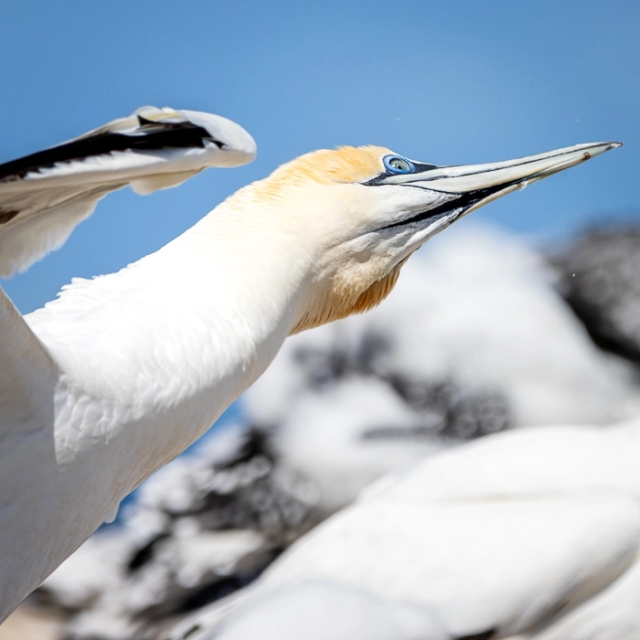
<path fill-rule="evenodd" d="M 42 536 L 21 527 L 24 513 L 55 517 L 49 480 L 55 473 L 53 397 L 59 370 L 11 301 L 0 289 L 0 619 L 42 580 L 43 563 L 30 562 Z M 55 509 L 55 505 L 53 505 Z M 64 544 L 64 543 L 63 543 Z M 50 571 L 53 567 L 45 567 Z M 44 574 L 46 575 L 46 573 Z"/>

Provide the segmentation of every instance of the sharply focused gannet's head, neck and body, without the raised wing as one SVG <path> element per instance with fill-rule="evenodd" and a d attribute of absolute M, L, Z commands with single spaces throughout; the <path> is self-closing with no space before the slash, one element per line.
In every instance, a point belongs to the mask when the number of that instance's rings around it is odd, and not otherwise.
<path fill-rule="evenodd" d="M 0 619 L 197 440 L 286 336 L 372 308 L 436 233 L 617 146 L 460 166 L 376 146 L 316 151 L 24 318 L 3 295 Z"/>

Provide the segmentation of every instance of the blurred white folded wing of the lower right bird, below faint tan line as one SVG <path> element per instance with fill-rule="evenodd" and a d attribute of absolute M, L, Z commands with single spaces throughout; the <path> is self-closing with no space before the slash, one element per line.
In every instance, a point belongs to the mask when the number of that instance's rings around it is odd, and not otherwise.
<path fill-rule="evenodd" d="M 422 605 L 454 637 L 519 633 L 598 593 L 634 560 L 636 503 L 556 499 L 355 505 L 293 545 L 263 588 L 332 580 Z"/>

